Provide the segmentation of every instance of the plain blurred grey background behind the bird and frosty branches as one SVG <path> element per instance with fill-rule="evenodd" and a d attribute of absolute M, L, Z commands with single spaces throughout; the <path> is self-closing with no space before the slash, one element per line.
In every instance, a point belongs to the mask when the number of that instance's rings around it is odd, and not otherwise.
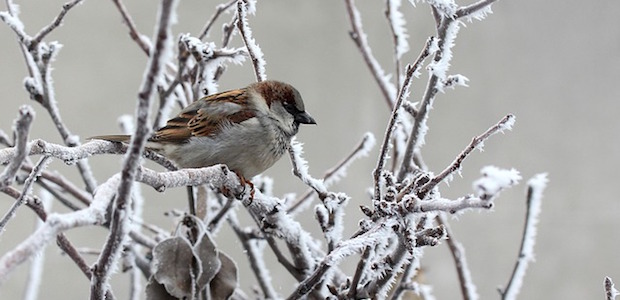
<path fill-rule="evenodd" d="M 51 22 L 64 3 L 16 2 L 31 35 Z M 152 36 L 156 1 L 126 2 L 139 30 Z M 434 33 L 433 21 L 426 4 L 414 8 L 403 2 L 411 47 L 404 61 L 411 62 Z M 185 32 L 197 35 L 218 3 L 182 1 L 175 36 Z M 373 53 L 387 72 L 393 72 L 384 1 L 357 1 L 357 5 Z M 1 7 L 6 9 L 4 4 Z M 484 152 L 473 153 L 464 163 L 462 178 L 457 176 L 450 186 L 441 186 L 445 196 L 469 193 L 480 168 L 491 164 L 516 168 L 524 177 L 519 186 L 501 195 L 492 212 L 469 211 L 452 220 L 455 237 L 467 251 L 478 292 L 482 299 L 496 299 L 496 288 L 505 286 L 521 240 L 525 181 L 548 172 L 536 261 L 527 271 L 520 298 L 601 299 L 604 276 L 620 285 L 620 2 L 502 0 L 493 5 L 493 11 L 486 20 L 467 23 L 461 29 L 450 73 L 467 76 L 470 87 L 438 95 L 422 150 L 424 157 L 431 170 L 439 172 L 474 135 L 505 114 L 515 114 L 512 132 L 487 141 Z M 208 40 L 219 44 L 220 26 L 229 20 L 230 15 L 221 18 Z M 389 110 L 348 36 L 349 21 L 342 1 L 263 0 L 249 21 L 265 53 L 268 77 L 294 84 L 319 124 L 302 128 L 298 137 L 305 143 L 311 174 L 321 176 L 365 132 L 381 139 Z M 69 12 L 64 25 L 47 40 L 64 45 L 53 64 L 53 77 L 58 105 L 70 130 L 82 138 L 120 132 L 116 120 L 134 112 L 146 57 L 129 38 L 112 2 L 86 0 Z M 4 24 L 0 41 L 0 129 L 10 133 L 18 107 L 29 104 L 37 111 L 31 138 L 61 143 L 47 112 L 30 101 L 23 89 L 23 57 L 13 32 Z M 240 45 L 238 37 L 234 44 Z M 253 80 L 250 64 L 230 66 L 220 90 Z M 416 80 L 411 101 L 420 99 L 425 81 L 426 74 Z M 371 184 L 376 156 L 377 147 L 332 188 L 352 197 L 345 235 L 355 230 L 361 218 L 358 206 L 369 203 L 365 191 Z M 120 156 L 95 157 L 90 162 L 101 183 L 118 171 Z M 54 162 L 50 169 L 80 183 L 74 167 Z M 285 158 L 266 173 L 276 179 L 276 194 L 305 190 L 290 169 Z M 163 213 L 185 206 L 184 189 L 164 194 L 143 189 L 146 220 L 171 229 L 173 222 Z M 4 212 L 13 200 L 5 195 L 0 198 L 0 211 Z M 66 212 L 58 203 L 54 209 Z M 240 211 L 243 214 L 243 209 Z M 302 223 L 318 232 L 311 208 L 308 212 Z M 34 215 L 21 209 L 0 236 L 0 254 L 22 241 L 33 226 Z M 67 234 L 78 247 L 100 248 L 106 232 L 81 228 Z M 240 245 L 230 236 L 224 229 L 216 240 L 237 258 L 240 268 L 247 267 Z M 95 259 L 87 258 L 89 262 Z M 87 297 L 88 281 L 53 243 L 47 247 L 45 260 L 42 299 Z M 351 269 L 354 263 L 349 260 L 343 267 Z M 437 299 L 460 298 L 445 245 L 426 249 L 422 263 Z M 0 298 L 20 299 L 27 271 L 27 265 L 21 266 L 0 288 Z M 283 268 L 274 267 L 272 272 L 282 296 L 288 296 L 295 281 Z M 242 286 L 248 291 L 254 278 L 243 273 Z M 114 276 L 112 284 L 119 299 L 126 298 L 127 278 L 120 272 Z"/>

